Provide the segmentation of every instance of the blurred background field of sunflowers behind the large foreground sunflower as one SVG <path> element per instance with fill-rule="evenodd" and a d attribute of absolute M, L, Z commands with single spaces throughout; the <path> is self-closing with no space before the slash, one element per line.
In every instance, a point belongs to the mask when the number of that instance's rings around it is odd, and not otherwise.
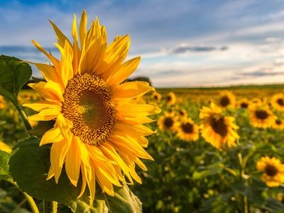
<path fill-rule="evenodd" d="M 147 124 L 157 130 L 148 136 L 146 148 L 154 161 L 143 160 L 148 171 L 136 168 L 143 184 L 129 186 L 143 212 L 283 212 L 283 89 L 157 89 L 138 99 L 162 109 Z M 38 98 L 23 90 L 19 102 Z M 0 108 L 0 141 L 13 147 L 27 135 L 12 104 L 1 99 Z M 0 212 L 13 211 L 31 209 L 15 186 L 0 180 Z"/>

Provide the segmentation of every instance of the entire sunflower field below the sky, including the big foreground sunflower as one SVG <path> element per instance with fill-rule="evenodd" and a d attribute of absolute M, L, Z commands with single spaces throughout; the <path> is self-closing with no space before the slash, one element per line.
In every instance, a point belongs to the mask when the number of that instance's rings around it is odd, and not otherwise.
<path fill-rule="evenodd" d="M 129 35 L 50 23 L 61 58 L 0 56 L 0 212 L 284 212 L 283 85 L 154 89 Z"/>

